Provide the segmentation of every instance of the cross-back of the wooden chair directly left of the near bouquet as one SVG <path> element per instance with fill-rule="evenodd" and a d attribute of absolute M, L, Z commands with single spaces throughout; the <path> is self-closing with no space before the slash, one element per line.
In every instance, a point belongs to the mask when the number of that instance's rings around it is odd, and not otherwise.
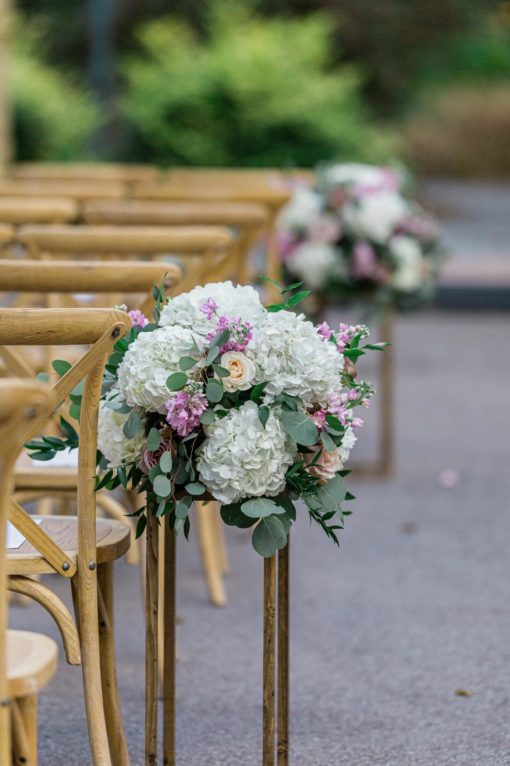
<path fill-rule="evenodd" d="M 81 391 L 80 442 L 78 450 L 78 562 L 96 562 L 96 448 L 99 401 L 104 365 L 115 344 L 130 330 L 130 320 L 114 309 L 6 309 L 0 308 L 0 346 L 77 346 L 88 348 L 50 389 L 60 406 Z M 23 436 L 29 441 L 44 431 L 53 413 L 37 414 Z M 12 498 L 9 519 L 47 561 L 64 577 L 76 574 L 65 551 L 40 528 Z"/>

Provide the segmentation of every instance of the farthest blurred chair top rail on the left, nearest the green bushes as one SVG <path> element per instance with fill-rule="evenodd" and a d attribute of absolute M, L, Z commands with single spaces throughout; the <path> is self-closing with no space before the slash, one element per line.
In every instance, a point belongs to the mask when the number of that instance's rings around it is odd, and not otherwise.
<path fill-rule="evenodd" d="M 8 168 L 10 178 L 31 181 L 150 181 L 159 169 L 151 165 L 114 163 L 21 162 Z"/>

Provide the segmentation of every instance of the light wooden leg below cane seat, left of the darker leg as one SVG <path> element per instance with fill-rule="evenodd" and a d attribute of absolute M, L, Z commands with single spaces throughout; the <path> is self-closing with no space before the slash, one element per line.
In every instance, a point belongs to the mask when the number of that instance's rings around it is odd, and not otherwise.
<path fill-rule="evenodd" d="M 71 583 L 76 624 L 80 634 L 83 694 L 92 764 L 93 766 L 113 766 L 101 688 L 97 584 L 95 579 L 87 578 L 87 574 L 82 575 L 85 582 L 80 584 L 79 577 L 80 570 Z"/>

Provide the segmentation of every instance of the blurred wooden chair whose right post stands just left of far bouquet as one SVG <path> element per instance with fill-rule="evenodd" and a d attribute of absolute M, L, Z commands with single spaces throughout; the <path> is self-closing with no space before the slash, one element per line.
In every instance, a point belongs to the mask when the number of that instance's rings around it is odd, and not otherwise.
<path fill-rule="evenodd" d="M 255 202 L 263 204 L 268 213 L 265 273 L 278 281 L 280 278 L 279 253 L 274 235 L 274 226 L 280 210 L 291 197 L 291 190 L 283 180 L 278 182 L 229 182 L 207 179 L 185 181 L 145 181 L 133 184 L 131 195 L 134 199 L 173 200 L 174 202 Z M 275 290 L 269 284 L 266 293 L 270 300 Z"/>

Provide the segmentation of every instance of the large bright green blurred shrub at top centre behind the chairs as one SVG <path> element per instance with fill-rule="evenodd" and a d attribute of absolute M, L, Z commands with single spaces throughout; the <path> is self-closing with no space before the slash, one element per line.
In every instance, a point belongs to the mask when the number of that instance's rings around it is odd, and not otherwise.
<path fill-rule="evenodd" d="M 169 17 L 144 25 L 141 52 L 123 67 L 136 156 L 216 166 L 386 158 L 358 71 L 330 70 L 331 29 L 322 15 L 265 20 L 225 0 L 212 5 L 206 40 Z"/>

